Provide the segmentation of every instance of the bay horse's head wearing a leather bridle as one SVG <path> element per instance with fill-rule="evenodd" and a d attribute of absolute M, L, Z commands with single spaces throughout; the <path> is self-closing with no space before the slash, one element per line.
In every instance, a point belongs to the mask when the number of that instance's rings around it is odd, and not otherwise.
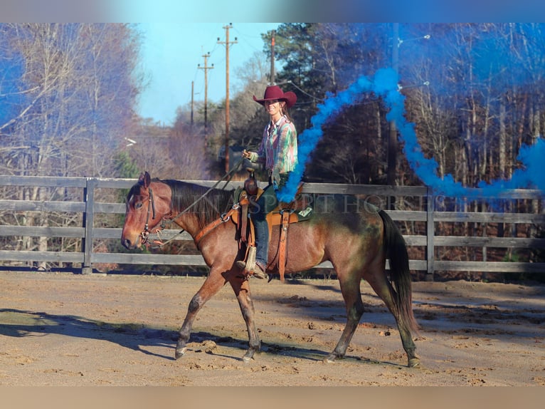
<path fill-rule="evenodd" d="M 147 243 L 147 235 L 160 230 L 164 217 L 171 214 L 171 190 L 168 185 L 142 173 L 127 195 L 125 224 L 121 243 L 127 249 Z"/>

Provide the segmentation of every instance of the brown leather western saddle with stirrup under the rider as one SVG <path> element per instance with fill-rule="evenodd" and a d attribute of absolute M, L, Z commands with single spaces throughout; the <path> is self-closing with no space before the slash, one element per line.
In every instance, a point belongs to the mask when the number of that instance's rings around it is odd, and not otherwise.
<path fill-rule="evenodd" d="M 244 182 L 243 188 L 238 188 L 234 193 L 235 203 L 238 203 L 238 212 L 231 215 L 231 219 L 237 225 L 237 240 L 240 254 L 244 254 L 244 261 L 253 269 L 255 265 L 255 232 L 252 219 L 249 216 L 249 209 L 252 202 L 258 200 L 263 193 L 255 181 L 253 169 L 248 168 L 250 173 L 247 180 Z M 269 238 L 272 237 L 272 229 L 280 229 L 280 237 L 278 242 L 278 251 L 275 259 L 269 265 L 276 262 L 280 281 L 284 281 L 284 272 L 287 259 L 287 232 L 288 227 L 292 223 L 303 222 L 312 217 L 312 207 L 309 206 L 307 200 L 302 197 L 303 184 L 297 188 L 295 199 L 290 203 L 280 202 L 272 212 L 266 216 L 269 227 Z"/>

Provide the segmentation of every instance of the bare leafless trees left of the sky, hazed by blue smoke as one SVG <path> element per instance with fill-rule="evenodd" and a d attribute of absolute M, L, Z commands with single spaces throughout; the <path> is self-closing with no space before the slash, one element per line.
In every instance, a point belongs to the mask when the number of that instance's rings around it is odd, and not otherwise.
<path fill-rule="evenodd" d="M 111 175 L 120 135 L 139 92 L 138 36 L 123 24 L 0 24 L 3 83 L 0 156 L 7 174 Z M 76 199 L 80 192 L 33 187 L 20 199 Z M 78 195 L 78 196 L 75 196 Z M 49 219 L 46 219 L 49 217 Z M 80 224 L 66 214 L 26 212 L 30 226 Z M 70 243 L 68 243 L 70 241 Z M 62 246 L 75 245 L 63 239 Z M 24 237 L 21 249 L 46 250 L 46 237 Z"/>

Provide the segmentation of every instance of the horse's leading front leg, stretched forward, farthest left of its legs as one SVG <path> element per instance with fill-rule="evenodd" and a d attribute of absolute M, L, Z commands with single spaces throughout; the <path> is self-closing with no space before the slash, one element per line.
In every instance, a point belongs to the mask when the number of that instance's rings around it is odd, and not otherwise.
<path fill-rule="evenodd" d="M 221 272 L 218 269 L 211 269 L 210 274 L 208 274 L 208 278 L 206 278 L 203 285 L 193 296 L 189 306 L 187 307 L 186 318 L 184 319 L 184 323 L 180 328 L 178 343 L 176 343 L 176 359 L 184 356 L 184 353 L 187 351 L 187 341 L 189 341 L 191 327 L 193 326 L 193 321 L 195 320 L 197 313 L 201 310 L 201 308 L 203 308 L 206 301 L 211 299 L 214 294 L 220 291 L 225 284 L 226 279 L 223 278 Z"/>

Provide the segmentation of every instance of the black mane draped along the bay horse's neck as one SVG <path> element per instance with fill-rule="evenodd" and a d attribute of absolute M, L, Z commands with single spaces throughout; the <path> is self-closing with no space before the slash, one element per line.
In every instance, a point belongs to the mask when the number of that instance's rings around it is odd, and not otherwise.
<path fill-rule="evenodd" d="M 196 185 L 180 180 L 161 180 L 169 185 L 172 197 L 171 206 L 174 212 L 183 212 L 191 206 L 189 213 L 195 214 L 200 227 L 218 219 L 222 213 L 228 212 L 233 206 L 233 191 L 212 189 L 203 196 L 209 187 Z M 176 217 L 176 214 L 173 214 Z"/>

